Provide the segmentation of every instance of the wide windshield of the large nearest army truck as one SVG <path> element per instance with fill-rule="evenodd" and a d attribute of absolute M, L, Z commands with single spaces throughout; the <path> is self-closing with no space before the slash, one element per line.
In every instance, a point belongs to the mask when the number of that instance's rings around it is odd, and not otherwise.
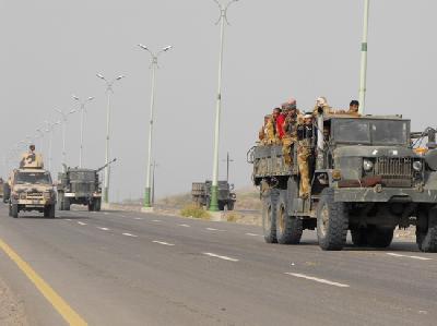
<path fill-rule="evenodd" d="M 336 143 L 402 145 L 408 143 L 409 122 L 405 120 L 347 120 L 333 121 Z"/>

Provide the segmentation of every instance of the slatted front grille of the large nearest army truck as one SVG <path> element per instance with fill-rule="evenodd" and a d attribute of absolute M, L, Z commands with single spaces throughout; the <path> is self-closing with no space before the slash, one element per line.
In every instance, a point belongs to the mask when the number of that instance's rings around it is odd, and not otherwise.
<path fill-rule="evenodd" d="M 382 177 L 386 186 L 412 186 L 413 159 L 410 157 L 378 157 L 375 174 Z"/>

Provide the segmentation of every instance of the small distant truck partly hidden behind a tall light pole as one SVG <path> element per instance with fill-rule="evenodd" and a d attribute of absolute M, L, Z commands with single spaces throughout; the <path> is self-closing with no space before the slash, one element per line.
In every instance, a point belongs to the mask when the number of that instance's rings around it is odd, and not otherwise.
<path fill-rule="evenodd" d="M 211 185 L 212 181 L 205 182 L 193 182 L 191 189 L 192 202 L 205 206 L 206 209 L 210 208 L 211 203 Z M 227 181 L 218 181 L 218 209 L 233 210 L 235 202 L 237 201 L 237 195 L 234 190 L 234 184 L 229 184 Z"/>

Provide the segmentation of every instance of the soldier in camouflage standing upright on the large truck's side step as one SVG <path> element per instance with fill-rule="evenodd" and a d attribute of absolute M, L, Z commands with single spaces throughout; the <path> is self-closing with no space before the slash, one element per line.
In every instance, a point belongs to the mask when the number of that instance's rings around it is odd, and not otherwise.
<path fill-rule="evenodd" d="M 300 186 L 299 186 L 299 196 L 302 198 L 308 198 L 310 192 L 310 182 L 309 182 L 309 158 L 312 155 L 312 138 L 316 136 L 314 124 L 312 124 L 312 114 L 306 113 L 304 116 L 303 124 L 297 126 L 297 164 L 299 166 L 299 174 L 300 174 Z"/>

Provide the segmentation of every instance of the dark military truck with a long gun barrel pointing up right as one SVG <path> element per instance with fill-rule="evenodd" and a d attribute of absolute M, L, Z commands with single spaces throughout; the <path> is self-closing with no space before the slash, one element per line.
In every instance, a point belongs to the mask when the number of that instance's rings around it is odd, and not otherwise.
<path fill-rule="evenodd" d="M 108 165 L 93 169 L 63 167 L 58 174 L 58 209 L 70 210 L 71 205 L 85 205 L 90 212 L 99 212 L 102 208 L 102 186 L 98 172 Z"/>

